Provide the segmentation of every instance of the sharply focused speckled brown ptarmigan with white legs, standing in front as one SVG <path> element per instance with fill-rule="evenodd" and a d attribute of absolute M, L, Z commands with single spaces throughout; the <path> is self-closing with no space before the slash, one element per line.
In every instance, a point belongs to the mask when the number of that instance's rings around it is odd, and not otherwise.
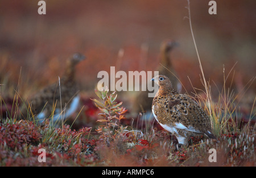
<path fill-rule="evenodd" d="M 160 125 L 174 134 L 181 144 L 187 146 L 189 136 L 212 134 L 209 116 L 190 97 L 180 94 L 174 89 L 171 81 L 164 75 L 152 78 L 159 85 L 159 90 L 152 102 L 152 113 Z"/>

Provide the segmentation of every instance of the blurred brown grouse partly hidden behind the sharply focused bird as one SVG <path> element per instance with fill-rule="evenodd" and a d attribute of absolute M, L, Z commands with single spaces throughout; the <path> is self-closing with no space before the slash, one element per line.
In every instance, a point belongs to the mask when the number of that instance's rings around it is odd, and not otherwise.
<path fill-rule="evenodd" d="M 176 47 L 178 44 L 174 42 L 173 40 L 164 40 L 162 44 L 160 45 L 160 64 L 158 68 L 156 68 L 156 71 L 159 71 L 159 74 L 164 74 L 171 78 L 172 81 L 174 81 L 175 89 L 178 91 L 181 90 L 181 84 L 179 80 L 177 79 L 177 74 L 175 72 L 175 69 L 172 66 L 171 61 L 171 51 L 174 47 Z M 164 67 L 166 68 L 164 68 Z M 169 70 L 169 71 L 168 71 Z M 171 72 L 170 72 L 171 71 Z M 174 75 L 175 74 L 175 75 Z M 150 111 L 151 113 L 151 104 L 152 104 L 153 98 L 148 97 L 148 90 L 142 91 L 139 93 L 139 96 L 135 100 L 135 111 Z"/>

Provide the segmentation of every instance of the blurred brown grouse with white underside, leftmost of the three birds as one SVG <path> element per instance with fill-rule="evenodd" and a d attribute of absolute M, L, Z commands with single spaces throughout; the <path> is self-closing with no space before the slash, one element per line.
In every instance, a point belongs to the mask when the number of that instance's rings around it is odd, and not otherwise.
<path fill-rule="evenodd" d="M 39 90 L 31 98 L 27 110 L 36 115 L 39 123 L 46 118 L 53 118 L 52 123 L 56 123 L 60 118 L 66 119 L 76 111 L 80 96 L 79 86 L 75 80 L 75 66 L 84 59 L 85 56 L 80 53 L 73 54 L 67 60 L 64 76 L 57 83 Z"/>

